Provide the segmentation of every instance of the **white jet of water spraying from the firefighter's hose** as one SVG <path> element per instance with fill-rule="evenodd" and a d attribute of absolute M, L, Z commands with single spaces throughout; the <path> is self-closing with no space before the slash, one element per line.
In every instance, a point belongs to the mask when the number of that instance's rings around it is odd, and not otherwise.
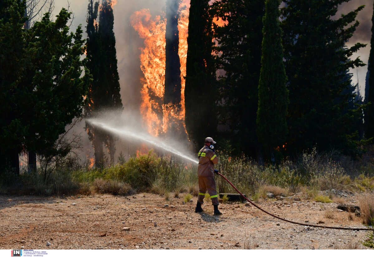
<path fill-rule="evenodd" d="M 147 135 L 147 134 L 144 134 L 144 133 L 140 133 L 140 132 L 135 132 L 135 131 L 131 131 L 127 128 L 117 128 L 117 127 L 114 127 L 114 126 L 110 126 L 104 122 L 101 122 L 101 121 L 98 121 L 98 120 L 94 120 L 94 119 L 88 119 L 86 120 L 88 123 L 91 123 L 91 125 L 94 125 L 94 126 L 98 126 L 102 129 L 104 129 L 105 131 L 108 131 L 108 132 L 112 132 L 116 135 L 119 135 L 119 136 L 123 136 L 123 137 L 131 137 L 131 138 L 135 138 L 137 140 L 141 140 L 141 141 L 144 141 L 144 142 L 147 142 L 149 144 L 152 144 L 153 146 L 156 146 L 158 148 L 161 148 L 167 152 L 170 152 L 172 154 L 175 154 L 177 156 L 180 156 L 186 160 L 189 160 L 193 163 L 196 163 L 198 164 L 199 162 L 194 159 L 193 157 L 190 157 L 188 156 L 187 154 L 184 154 L 180 151 L 178 151 L 177 149 L 175 149 L 175 147 L 172 147 L 164 142 L 162 142 L 159 138 L 156 138 L 156 137 L 152 137 L 151 135 Z"/>

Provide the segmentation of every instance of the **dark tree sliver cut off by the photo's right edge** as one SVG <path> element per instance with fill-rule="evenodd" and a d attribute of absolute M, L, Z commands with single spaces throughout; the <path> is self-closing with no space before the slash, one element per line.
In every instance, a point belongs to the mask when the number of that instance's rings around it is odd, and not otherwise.
<path fill-rule="evenodd" d="M 374 9 L 374 3 L 373 3 Z M 365 137 L 374 137 L 374 10 L 371 18 L 371 40 L 368 71 L 366 74 L 365 103 L 368 103 L 365 111 Z"/>

